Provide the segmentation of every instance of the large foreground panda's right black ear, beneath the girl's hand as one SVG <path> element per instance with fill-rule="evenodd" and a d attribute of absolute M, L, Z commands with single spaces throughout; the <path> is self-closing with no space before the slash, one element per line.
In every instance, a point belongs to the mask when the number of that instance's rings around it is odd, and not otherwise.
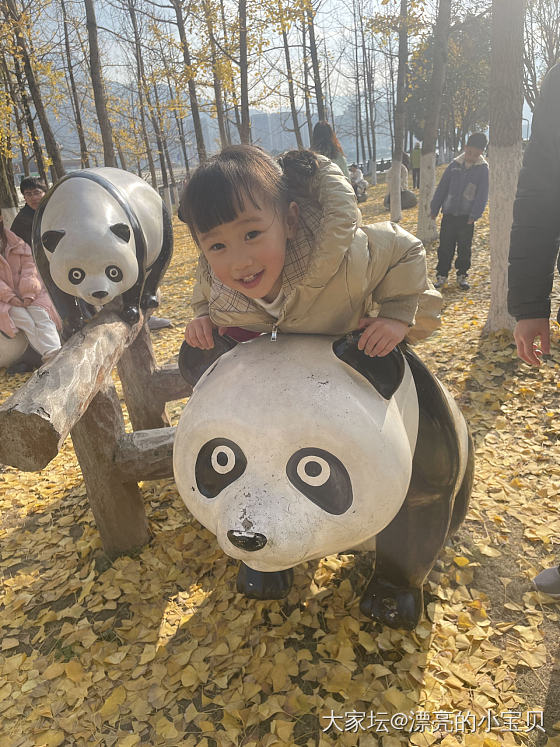
<path fill-rule="evenodd" d="M 363 330 L 358 329 L 333 342 L 333 352 L 337 358 L 362 374 L 384 399 L 391 399 L 404 376 L 404 358 L 399 348 L 388 355 L 372 358 L 358 348 L 358 340 Z"/>

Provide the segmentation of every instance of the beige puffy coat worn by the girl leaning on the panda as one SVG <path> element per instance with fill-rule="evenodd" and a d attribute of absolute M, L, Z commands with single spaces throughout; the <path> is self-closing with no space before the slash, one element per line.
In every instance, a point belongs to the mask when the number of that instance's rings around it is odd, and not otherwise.
<path fill-rule="evenodd" d="M 201 254 L 192 306 L 219 326 L 257 332 L 338 335 L 364 316 L 412 326 L 407 340 L 440 325 L 441 295 L 427 278 L 422 243 L 400 226 L 360 226 L 354 191 L 328 158 L 318 156 L 311 194 L 298 200 L 296 238 L 288 242 L 282 278 L 285 302 L 278 319 L 242 293 L 223 285 Z"/>

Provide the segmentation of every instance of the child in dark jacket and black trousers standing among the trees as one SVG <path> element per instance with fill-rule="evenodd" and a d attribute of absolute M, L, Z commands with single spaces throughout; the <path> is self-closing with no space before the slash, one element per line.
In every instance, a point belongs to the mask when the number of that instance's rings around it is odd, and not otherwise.
<path fill-rule="evenodd" d="M 435 220 L 440 209 L 443 211 L 436 288 L 447 283 L 455 249 L 457 284 L 461 290 L 470 288 L 467 273 L 471 266 L 474 224 L 488 202 L 488 163 L 482 155 L 487 143 L 483 132 L 471 135 L 465 152 L 449 164 L 434 193 L 430 205 L 432 218 Z"/>

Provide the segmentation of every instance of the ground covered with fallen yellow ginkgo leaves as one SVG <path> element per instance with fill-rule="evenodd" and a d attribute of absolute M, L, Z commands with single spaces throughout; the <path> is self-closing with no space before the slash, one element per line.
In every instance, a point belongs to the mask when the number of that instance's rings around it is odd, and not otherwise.
<path fill-rule="evenodd" d="M 386 217 L 383 189 L 366 221 Z M 175 229 L 160 363 L 178 352 L 196 262 Z M 416 630 L 360 617 L 368 554 L 297 568 L 284 602 L 239 596 L 236 564 L 172 480 L 142 485 L 153 541 L 110 563 L 68 440 L 41 472 L 0 474 L 2 747 L 560 745 L 559 607 L 530 583 L 560 555 L 558 335 L 540 370 L 509 336 L 481 339 L 487 217 L 473 264 L 472 289 L 450 284 L 441 331 L 418 346 L 460 403 L 477 461 Z M 0 371 L 0 401 L 24 380 Z M 182 406 L 169 405 L 175 421 Z"/>

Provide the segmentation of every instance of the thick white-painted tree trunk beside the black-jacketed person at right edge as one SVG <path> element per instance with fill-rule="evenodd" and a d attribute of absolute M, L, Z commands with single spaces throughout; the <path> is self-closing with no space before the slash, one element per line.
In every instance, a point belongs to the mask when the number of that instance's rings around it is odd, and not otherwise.
<path fill-rule="evenodd" d="M 483 333 L 513 329 L 507 269 L 513 202 L 521 167 L 525 0 L 492 1 L 490 67 L 490 309 Z"/>

